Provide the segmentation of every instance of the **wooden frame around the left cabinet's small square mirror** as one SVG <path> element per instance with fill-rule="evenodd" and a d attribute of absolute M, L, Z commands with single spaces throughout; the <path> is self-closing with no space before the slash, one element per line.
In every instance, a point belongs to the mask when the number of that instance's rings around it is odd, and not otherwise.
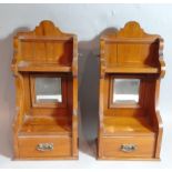
<path fill-rule="evenodd" d="M 36 78 L 61 78 L 62 102 L 37 102 L 36 100 Z M 33 108 L 67 108 L 67 78 L 59 74 L 30 74 L 31 104 Z"/>

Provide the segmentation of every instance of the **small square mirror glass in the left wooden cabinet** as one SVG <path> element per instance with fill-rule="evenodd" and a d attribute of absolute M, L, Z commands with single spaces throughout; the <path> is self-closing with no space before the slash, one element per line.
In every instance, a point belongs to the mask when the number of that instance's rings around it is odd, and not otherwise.
<path fill-rule="evenodd" d="M 62 102 L 61 78 L 36 78 L 36 102 Z"/>

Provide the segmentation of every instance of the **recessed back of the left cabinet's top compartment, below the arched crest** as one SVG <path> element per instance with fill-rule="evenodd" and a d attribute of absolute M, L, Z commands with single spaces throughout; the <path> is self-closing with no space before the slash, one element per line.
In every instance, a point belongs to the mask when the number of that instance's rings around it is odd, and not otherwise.
<path fill-rule="evenodd" d="M 60 64 L 71 64 L 72 47 L 68 41 L 21 41 L 21 55 L 23 61 L 57 62 Z"/>

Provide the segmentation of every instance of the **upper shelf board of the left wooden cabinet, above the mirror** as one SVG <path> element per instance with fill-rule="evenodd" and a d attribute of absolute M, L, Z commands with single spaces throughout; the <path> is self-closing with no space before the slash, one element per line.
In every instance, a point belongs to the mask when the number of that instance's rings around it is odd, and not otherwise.
<path fill-rule="evenodd" d="M 59 63 L 50 62 L 27 62 L 21 61 L 17 64 L 21 72 L 71 72 L 70 65 L 60 65 Z M 14 68 L 14 67 L 13 67 Z"/>

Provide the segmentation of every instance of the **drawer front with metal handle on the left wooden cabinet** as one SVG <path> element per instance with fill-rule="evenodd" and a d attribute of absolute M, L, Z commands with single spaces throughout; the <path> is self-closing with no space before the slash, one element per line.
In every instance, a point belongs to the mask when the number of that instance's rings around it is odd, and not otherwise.
<path fill-rule="evenodd" d="M 20 136 L 20 158 L 71 156 L 70 136 Z"/>

